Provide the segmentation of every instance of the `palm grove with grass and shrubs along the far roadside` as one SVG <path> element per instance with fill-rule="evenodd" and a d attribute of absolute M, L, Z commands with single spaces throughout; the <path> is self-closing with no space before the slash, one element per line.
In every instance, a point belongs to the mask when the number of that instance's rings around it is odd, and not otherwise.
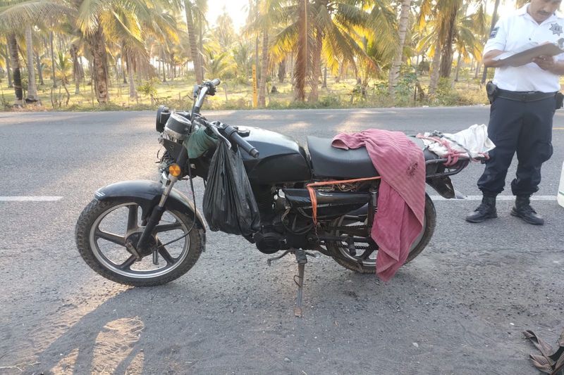
<path fill-rule="evenodd" d="M 235 31 L 207 0 L 0 1 L 0 108 L 189 108 L 216 77 L 207 108 L 485 104 L 496 3 L 249 0 Z"/>

